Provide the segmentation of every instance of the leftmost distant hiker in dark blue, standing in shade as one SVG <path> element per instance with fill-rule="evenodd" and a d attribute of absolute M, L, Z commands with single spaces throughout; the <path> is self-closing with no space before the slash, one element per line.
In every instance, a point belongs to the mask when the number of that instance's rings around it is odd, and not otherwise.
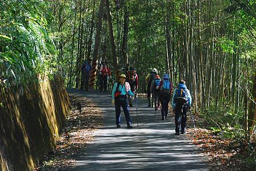
<path fill-rule="evenodd" d="M 81 79 L 81 87 L 80 89 L 84 89 L 88 91 L 88 86 L 89 86 L 89 78 L 90 78 L 90 70 L 92 70 L 92 64 L 91 60 L 88 59 L 87 61 L 84 61 L 82 64 L 81 70 L 82 70 L 82 79 Z"/>

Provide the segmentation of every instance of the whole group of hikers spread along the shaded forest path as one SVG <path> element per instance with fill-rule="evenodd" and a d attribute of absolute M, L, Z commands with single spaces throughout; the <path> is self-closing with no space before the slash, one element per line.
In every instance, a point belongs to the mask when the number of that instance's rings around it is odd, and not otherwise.
<path fill-rule="evenodd" d="M 82 64 L 81 89 L 85 87 L 88 91 L 89 75 L 92 69 L 91 61 L 87 60 Z M 126 73 L 120 74 L 119 81 L 116 82 L 112 90 L 112 104 L 115 105 L 115 119 L 117 128 L 121 127 L 121 107 L 125 113 L 127 128 L 133 128 L 129 114 L 129 107 L 133 107 L 133 99 L 137 98 L 137 90 L 139 88 L 139 79 L 136 69 L 129 64 L 126 65 Z M 98 66 L 98 78 L 100 80 L 100 91 L 107 90 L 108 78 L 111 73 L 106 61 L 102 61 Z M 191 94 L 185 85 L 184 80 L 180 80 L 177 88 L 173 90 L 172 82 L 169 74 L 164 74 L 160 78 L 157 69 L 152 69 L 146 76 L 147 84 L 147 101 L 148 107 L 155 107 L 155 111 L 161 108 L 162 120 L 166 120 L 168 116 L 168 104 L 172 97 L 172 109 L 175 113 L 175 135 L 186 134 L 187 111 L 191 107 Z M 152 104 L 151 105 L 151 97 Z M 180 132 L 181 130 L 181 132 Z"/>

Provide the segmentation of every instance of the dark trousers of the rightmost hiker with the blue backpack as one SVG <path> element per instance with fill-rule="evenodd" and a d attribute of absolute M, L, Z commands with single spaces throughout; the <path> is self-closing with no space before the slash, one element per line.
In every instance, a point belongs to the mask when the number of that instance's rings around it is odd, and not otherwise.
<path fill-rule="evenodd" d="M 187 126 L 187 110 L 187 105 L 183 105 L 175 109 L 175 132 L 180 132 L 180 126 L 181 132 L 185 131 Z"/>

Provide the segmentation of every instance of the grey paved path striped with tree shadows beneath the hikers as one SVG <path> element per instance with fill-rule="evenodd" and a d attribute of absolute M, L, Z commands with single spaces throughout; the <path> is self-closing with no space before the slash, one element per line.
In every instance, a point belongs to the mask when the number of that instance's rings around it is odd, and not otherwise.
<path fill-rule="evenodd" d="M 75 156 L 77 162 L 72 171 L 209 170 L 199 149 L 184 135 L 174 135 L 174 118 L 162 121 L 160 111 L 154 118 L 154 109 L 146 107 L 146 100 L 138 98 L 139 127 L 136 107 L 131 107 L 134 128 L 126 128 L 123 112 L 122 128 L 115 128 L 115 110 L 110 93 L 75 89 L 68 89 L 68 92 L 92 99 L 104 116 L 104 126 L 94 133 L 95 139 L 85 151 Z"/>

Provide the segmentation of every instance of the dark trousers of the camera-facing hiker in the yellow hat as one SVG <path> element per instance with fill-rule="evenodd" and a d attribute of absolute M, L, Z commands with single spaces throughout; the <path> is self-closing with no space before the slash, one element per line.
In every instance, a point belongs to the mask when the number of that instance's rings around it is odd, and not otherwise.
<path fill-rule="evenodd" d="M 115 121 L 117 124 L 121 123 L 121 106 L 122 106 L 123 112 L 125 113 L 125 119 L 126 119 L 127 125 L 129 125 L 131 124 L 131 118 L 128 110 L 127 98 L 125 99 L 115 98 Z"/>

